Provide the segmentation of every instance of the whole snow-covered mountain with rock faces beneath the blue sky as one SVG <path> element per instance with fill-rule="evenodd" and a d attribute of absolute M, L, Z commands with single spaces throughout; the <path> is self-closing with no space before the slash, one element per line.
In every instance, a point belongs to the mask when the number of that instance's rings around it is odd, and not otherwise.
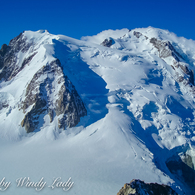
<path fill-rule="evenodd" d="M 25 31 L 2 46 L 0 69 L 5 193 L 36 194 L 21 177 L 71 177 L 69 194 L 117 194 L 132 179 L 193 194 L 195 41 L 152 27 Z"/>

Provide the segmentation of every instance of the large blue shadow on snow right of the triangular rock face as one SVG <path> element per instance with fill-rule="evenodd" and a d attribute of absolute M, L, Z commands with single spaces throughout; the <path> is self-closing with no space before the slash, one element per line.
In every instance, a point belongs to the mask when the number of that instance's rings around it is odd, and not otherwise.
<path fill-rule="evenodd" d="M 81 49 L 71 51 L 66 41 L 53 40 L 53 43 L 55 44 L 54 57 L 60 60 L 64 74 L 75 86 L 87 109 L 87 116 L 81 118 L 79 125 L 86 127 L 104 118 L 108 113 L 106 82 L 82 60 Z"/>

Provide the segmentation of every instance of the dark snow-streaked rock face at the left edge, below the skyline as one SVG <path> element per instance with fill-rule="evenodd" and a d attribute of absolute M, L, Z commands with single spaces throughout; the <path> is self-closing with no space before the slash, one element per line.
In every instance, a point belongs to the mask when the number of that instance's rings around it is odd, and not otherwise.
<path fill-rule="evenodd" d="M 7 46 L 4 44 L 0 50 L 0 80 L 9 81 L 16 76 L 24 66 L 29 63 L 36 53 L 32 54 L 28 59 L 25 59 L 22 65 L 17 63 L 18 52 L 26 52 L 31 44 L 26 42 L 26 38 L 21 33 L 12 39 Z"/>

